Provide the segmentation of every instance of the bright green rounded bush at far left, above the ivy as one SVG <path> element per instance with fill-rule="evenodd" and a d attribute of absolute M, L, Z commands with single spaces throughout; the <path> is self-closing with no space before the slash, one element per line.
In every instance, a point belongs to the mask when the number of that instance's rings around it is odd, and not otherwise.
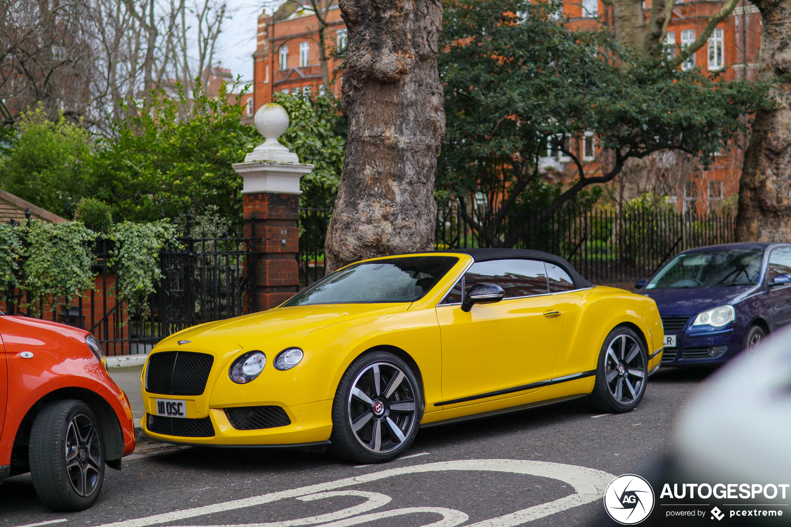
<path fill-rule="evenodd" d="M 44 111 L 36 107 L 22 114 L 18 139 L 0 158 L 0 186 L 70 218 L 84 193 L 90 149 L 89 136 L 80 126 L 62 116 L 57 122 L 47 121 Z"/>

